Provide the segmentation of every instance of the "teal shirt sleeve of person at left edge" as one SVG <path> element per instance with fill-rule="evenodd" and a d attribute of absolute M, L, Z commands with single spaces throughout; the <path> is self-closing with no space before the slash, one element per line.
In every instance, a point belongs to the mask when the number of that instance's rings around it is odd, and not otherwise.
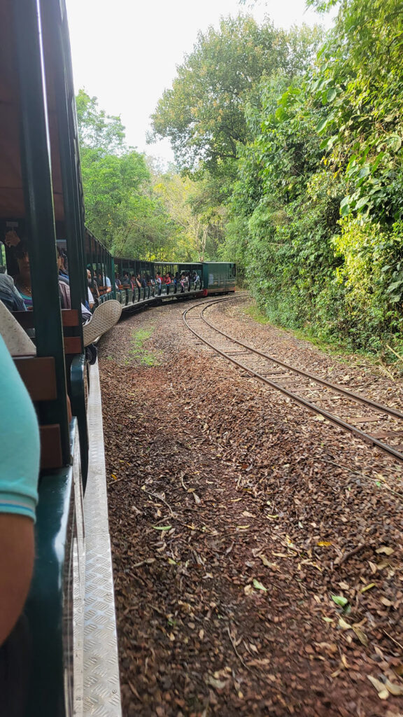
<path fill-rule="evenodd" d="M 0 513 L 35 520 L 39 453 L 37 415 L 0 336 Z"/>

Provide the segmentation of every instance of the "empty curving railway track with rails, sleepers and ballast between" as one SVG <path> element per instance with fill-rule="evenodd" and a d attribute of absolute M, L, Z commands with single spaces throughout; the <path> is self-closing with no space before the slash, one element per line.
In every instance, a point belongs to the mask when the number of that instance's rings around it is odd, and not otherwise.
<path fill-rule="evenodd" d="M 249 376 L 403 462 L 402 412 L 275 359 L 224 333 L 205 316 L 212 305 L 239 296 L 209 300 L 189 307 L 182 315 L 186 327 L 215 353 L 224 356 Z"/>

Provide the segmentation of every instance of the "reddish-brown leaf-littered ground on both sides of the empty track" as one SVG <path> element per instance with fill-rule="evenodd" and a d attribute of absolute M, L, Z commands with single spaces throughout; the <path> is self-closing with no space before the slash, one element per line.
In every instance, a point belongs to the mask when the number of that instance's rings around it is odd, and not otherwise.
<path fill-rule="evenodd" d="M 210 316 L 402 408 L 246 306 Z M 403 715 L 403 466 L 242 375 L 183 310 L 100 345 L 123 715 Z"/>

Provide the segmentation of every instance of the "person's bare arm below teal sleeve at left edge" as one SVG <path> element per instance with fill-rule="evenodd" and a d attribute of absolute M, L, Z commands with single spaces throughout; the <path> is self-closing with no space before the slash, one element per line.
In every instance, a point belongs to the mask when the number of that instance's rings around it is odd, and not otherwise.
<path fill-rule="evenodd" d="M 34 566 L 34 521 L 0 513 L 0 645 L 22 613 Z"/>

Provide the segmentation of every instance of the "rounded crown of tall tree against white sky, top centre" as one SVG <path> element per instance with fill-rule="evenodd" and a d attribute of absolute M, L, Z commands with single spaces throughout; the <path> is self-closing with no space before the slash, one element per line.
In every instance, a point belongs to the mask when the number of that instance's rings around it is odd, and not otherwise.
<path fill-rule="evenodd" d="M 177 68 L 172 87 L 152 115 L 153 137 L 168 137 L 180 168 L 200 163 L 215 171 L 237 158 L 250 139 L 245 108 L 262 77 L 306 67 L 320 32 L 286 34 L 251 16 L 222 19 L 219 29 L 199 33 L 194 50 Z"/>

